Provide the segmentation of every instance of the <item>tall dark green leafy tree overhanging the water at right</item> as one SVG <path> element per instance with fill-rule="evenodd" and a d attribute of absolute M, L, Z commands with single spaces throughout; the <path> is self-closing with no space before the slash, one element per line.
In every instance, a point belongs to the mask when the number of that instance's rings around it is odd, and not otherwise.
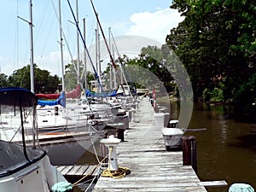
<path fill-rule="evenodd" d="M 195 97 L 217 88 L 231 100 L 255 72 L 255 1 L 174 0 L 171 8 L 185 20 L 166 43 L 187 68 Z"/>

